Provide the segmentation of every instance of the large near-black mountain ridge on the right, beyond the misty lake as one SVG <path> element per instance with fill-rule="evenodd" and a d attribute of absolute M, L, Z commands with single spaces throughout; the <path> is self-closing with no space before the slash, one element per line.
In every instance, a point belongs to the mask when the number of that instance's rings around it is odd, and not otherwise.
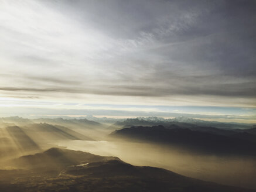
<path fill-rule="evenodd" d="M 132 126 L 112 132 L 110 137 L 180 146 L 184 149 L 204 153 L 256 155 L 256 144 L 246 139 L 191 131 L 190 129 L 168 129 L 162 125 Z"/>

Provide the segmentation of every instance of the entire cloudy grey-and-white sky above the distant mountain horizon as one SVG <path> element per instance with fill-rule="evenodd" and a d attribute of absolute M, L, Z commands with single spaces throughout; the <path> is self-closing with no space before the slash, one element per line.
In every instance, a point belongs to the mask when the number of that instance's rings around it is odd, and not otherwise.
<path fill-rule="evenodd" d="M 254 121 L 255 9 L 247 0 L 0 0 L 0 115 Z"/>

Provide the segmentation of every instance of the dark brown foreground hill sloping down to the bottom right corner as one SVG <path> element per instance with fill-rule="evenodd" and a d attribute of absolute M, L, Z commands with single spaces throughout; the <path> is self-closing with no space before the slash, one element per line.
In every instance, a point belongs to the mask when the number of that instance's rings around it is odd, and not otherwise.
<path fill-rule="evenodd" d="M 132 166 L 117 157 L 57 148 L 20 157 L 11 164 L 22 169 L 0 170 L 0 191 L 255 191 L 192 179 L 165 169 Z"/>

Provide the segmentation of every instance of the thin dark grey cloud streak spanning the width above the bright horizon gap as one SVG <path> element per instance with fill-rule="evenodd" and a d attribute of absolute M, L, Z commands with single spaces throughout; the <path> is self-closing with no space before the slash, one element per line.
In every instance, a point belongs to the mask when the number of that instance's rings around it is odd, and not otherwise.
<path fill-rule="evenodd" d="M 48 81 L 48 80 L 46 80 Z M 58 81 L 57 81 L 58 82 Z M 62 81 L 59 81 L 62 82 Z M 192 85 L 193 86 L 193 85 Z M 216 85 L 215 85 L 216 86 Z M 227 88 L 228 87 L 228 88 Z M 240 84 L 223 84 L 218 87 L 202 86 L 191 87 L 180 84 L 176 87 L 155 87 L 142 85 L 118 85 L 118 86 L 99 86 L 97 88 L 81 88 L 81 87 L 52 87 L 52 88 L 29 88 L 29 87 L 0 87 L 2 91 L 23 91 L 23 92 L 66 92 L 66 93 L 84 93 L 95 95 L 121 95 L 121 96 L 141 96 L 141 97 L 166 97 L 171 95 L 216 95 L 228 97 L 243 97 L 255 98 L 256 92 L 253 89 L 254 83 L 240 83 Z M 225 90 L 226 88 L 226 90 Z M 228 89 L 228 90 L 227 90 Z M 216 91 L 218 90 L 218 91 Z M 246 94 L 245 94 L 246 92 Z"/>

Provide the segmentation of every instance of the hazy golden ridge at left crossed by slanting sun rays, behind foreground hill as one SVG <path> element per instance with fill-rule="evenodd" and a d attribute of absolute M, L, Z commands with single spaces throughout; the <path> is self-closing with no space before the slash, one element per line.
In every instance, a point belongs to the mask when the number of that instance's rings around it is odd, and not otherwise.
<path fill-rule="evenodd" d="M 0 160 L 41 152 L 41 148 L 49 148 L 48 142 L 66 139 L 93 140 L 59 125 L 28 124 L 25 127 L 0 128 Z"/>

